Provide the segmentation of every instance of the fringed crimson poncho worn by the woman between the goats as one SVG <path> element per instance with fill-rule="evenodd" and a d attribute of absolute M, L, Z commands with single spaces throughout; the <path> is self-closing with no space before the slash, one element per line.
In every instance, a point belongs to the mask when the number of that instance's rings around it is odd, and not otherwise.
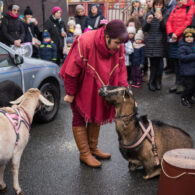
<path fill-rule="evenodd" d="M 60 76 L 66 85 L 66 75 L 79 79 L 75 103 L 85 121 L 102 124 L 114 118 L 114 109 L 99 96 L 98 89 L 128 86 L 123 53 L 122 45 L 115 51 L 106 47 L 104 27 L 82 34 L 73 43 Z"/>

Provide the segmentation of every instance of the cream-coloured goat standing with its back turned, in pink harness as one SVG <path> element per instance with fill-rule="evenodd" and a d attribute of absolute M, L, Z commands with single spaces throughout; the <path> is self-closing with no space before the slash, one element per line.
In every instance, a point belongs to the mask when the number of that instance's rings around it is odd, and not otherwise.
<path fill-rule="evenodd" d="M 40 109 L 41 103 L 47 106 L 53 106 L 53 103 L 44 98 L 39 89 L 29 89 L 21 97 L 12 101 L 12 107 L 3 107 L 0 109 L 0 190 L 6 189 L 6 184 L 3 180 L 4 170 L 7 162 L 12 159 L 13 171 L 13 188 L 16 194 L 22 194 L 22 189 L 19 185 L 19 165 L 22 153 L 29 139 L 29 128 L 32 123 L 34 113 Z M 15 118 L 18 133 L 13 125 L 13 119 L 9 116 L 14 116 L 18 113 L 19 117 Z M 22 123 L 20 123 L 20 119 Z M 27 122 L 28 121 L 28 122 Z"/>

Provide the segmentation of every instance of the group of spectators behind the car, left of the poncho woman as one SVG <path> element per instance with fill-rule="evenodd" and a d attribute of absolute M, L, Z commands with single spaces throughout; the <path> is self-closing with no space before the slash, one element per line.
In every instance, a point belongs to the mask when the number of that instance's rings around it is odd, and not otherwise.
<path fill-rule="evenodd" d="M 11 4 L 1 24 L 1 41 L 8 46 L 21 47 L 21 44 L 32 43 L 32 57 L 62 64 L 76 36 L 87 29 L 97 29 L 104 19 L 98 5 L 91 6 L 89 16 L 85 16 L 82 5 L 76 6 L 76 15 L 67 23 L 62 20 L 62 9 L 55 6 L 51 16 L 43 24 L 43 32 L 39 30 L 38 21 L 33 17 L 29 6 L 23 15 L 20 6 Z"/>

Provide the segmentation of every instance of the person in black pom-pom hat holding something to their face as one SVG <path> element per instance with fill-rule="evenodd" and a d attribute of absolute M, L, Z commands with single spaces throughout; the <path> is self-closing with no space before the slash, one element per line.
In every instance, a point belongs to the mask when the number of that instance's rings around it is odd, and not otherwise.
<path fill-rule="evenodd" d="M 32 38 L 36 37 L 41 40 L 41 32 L 38 27 L 38 21 L 32 17 L 33 12 L 29 6 L 24 10 L 24 29 L 25 29 L 25 37 L 24 43 L 32 42 Z M 38 49 L 33 46 L 33 55 L 32 57 L 38 57 Z"/>

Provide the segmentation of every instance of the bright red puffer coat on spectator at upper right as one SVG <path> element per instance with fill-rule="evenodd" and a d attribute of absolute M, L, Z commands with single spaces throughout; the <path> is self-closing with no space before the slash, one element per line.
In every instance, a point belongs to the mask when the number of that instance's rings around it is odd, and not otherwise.
<path fill-rule="evenodd" d="M 190 6 L 190 9 L 187 12 L 186 9 L 188 6 Z M 166 24 L 167 34 L 174 33 L 177 35 L 178 40 L 180 40 L 185 28 L 192 23 L 194 14 L 195 6 L 193 0 L 188 0 L 187 4 L 181 7 L 176 5 Z"/>

